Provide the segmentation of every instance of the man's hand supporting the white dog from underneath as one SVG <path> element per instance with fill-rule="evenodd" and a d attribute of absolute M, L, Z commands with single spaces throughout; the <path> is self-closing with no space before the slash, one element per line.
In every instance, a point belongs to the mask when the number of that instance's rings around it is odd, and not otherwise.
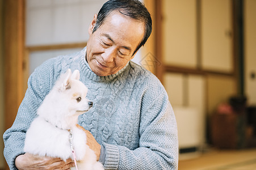
<path fill-rule="evenodd" d="M 30 169 L 69 169 L 74 167 L 75 164 L 72 159 L 68 159 L 66 162 L 60 158 L 40 157 L 32 154 L 19 155 L 15 159 L 15 166 L 19 170 Z"/>

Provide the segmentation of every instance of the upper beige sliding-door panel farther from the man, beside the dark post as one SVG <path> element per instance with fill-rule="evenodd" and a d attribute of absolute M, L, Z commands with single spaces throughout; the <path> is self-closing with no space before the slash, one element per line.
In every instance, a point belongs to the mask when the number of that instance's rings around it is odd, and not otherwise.
<path fill-rule="evenodd" d="M 202 0 L 202 67 L 233 72 L 232 4 L 230 0 Z"/>

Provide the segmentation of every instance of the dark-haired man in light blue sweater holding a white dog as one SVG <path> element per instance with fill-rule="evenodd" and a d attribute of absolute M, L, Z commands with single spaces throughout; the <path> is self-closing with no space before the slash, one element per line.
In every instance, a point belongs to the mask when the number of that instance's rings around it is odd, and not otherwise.
<path fill-rule="evenodd" d="M 78 118 L 87 145 L 105 169 L 178 169 L 177 125 L 165 88 L 131 61 L 152 31 L 148 10 L 137 0 L 110 0 L 89 26 L 81 51 L 49 59 L 28 79 L 15 122 L 3 138 L 10 169 L 69 169 L 70 159 L 24 153 L 36 110 L 67 69 L 78 69 L 94 103 Z M 90 132 L 89 132 L 90 131 Z"/>

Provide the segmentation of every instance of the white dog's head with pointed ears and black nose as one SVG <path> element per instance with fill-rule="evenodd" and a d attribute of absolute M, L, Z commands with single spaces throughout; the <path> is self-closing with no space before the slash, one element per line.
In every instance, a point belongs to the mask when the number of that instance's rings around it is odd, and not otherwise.
<path fill-rule="evenodd" d="M 78 70 L 75 70 L 73 74 L 68 69 L 66 73 L 57 82 L 58 93 L 61 95 L 61 103 L 68 109 L 66 116 L 72 116 L 73 114 L 79 115 L 88 111 L 93 102 L 86 99 L 87 87 L 85 84 L 79 81 L 80 74 Z"/>

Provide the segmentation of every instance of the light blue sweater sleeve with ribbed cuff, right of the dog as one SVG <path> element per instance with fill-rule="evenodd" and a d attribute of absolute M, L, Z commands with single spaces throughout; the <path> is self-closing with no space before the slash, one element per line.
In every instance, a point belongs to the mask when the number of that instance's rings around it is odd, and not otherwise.
<path fill-rule="evenodd" d="M 178 169 L 177 123 L 162 84 L 150 87 L 141 103 L 139 147 L 105 144 L 105 169 Z"/>

